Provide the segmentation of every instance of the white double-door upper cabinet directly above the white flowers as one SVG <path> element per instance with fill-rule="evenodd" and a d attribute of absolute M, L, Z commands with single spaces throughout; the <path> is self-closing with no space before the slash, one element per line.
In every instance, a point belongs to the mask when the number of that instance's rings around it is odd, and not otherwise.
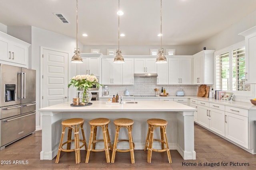
<path fill-rule="evenodd" d="M 83 63 L 77 64 L 78 74 L 93 74 L 100 77 L 100 57 L 85 57 L 90 54 L 80 54 Z"/>

